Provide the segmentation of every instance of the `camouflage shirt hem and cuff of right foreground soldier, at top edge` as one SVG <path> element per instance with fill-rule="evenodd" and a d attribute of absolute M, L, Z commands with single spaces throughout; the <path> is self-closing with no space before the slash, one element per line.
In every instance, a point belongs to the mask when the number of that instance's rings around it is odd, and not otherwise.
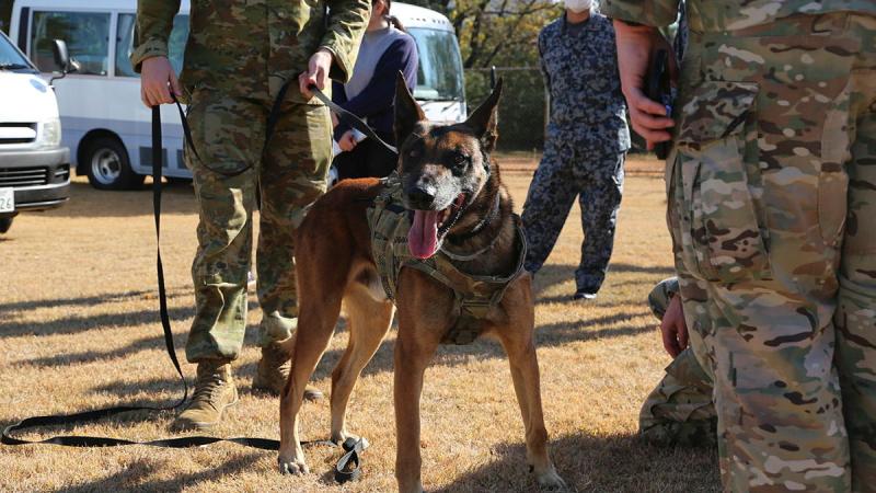
<path fill-rule="evenodd" d="M 662 27 L 676 22 L 680 0 L 603 0 L 606 15 Z M 688 0 L 690 30 L 714 33 L 769 24 L 794 14 L 855 11 L 876 14 L 873 0 Z M 695 14 L 694 14 L 695 13 Z"/>

